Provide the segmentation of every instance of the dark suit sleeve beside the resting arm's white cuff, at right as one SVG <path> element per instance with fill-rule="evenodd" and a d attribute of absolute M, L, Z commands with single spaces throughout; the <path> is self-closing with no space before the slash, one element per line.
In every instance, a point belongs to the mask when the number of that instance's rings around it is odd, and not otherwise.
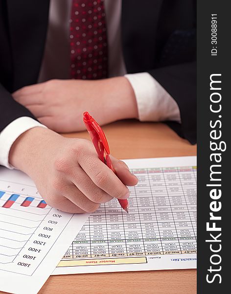
<path fill-rule="evenodd" d="M 181 124 L 170 122 L 180 136 L 196 143 L 196 62 L 188 62 L 148 71 L 179 106 Z"/>

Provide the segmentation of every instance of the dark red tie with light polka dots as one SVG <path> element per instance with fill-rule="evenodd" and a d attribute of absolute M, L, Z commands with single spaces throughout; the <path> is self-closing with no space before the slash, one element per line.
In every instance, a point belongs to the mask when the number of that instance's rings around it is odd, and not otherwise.
<path fill-rule="evenodd" d="M 72 0 L 70 18 L 71 77 L 107 77 L 108 51 L 103 0 Z"/>

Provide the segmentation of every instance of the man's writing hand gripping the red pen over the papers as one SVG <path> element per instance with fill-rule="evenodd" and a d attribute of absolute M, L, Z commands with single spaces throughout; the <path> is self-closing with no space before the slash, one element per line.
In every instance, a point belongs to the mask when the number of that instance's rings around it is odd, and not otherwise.
<path fill-rule="evenodd" d="M 69 139 L 43 127 L 23 133 L 9 162 L 27 173 L 47 204 L 70 213 L 93 212 L 113 197 L 126 199 L 138 179 L 125 163 L 112 158 L 117 176 L 98 158 L 92 143 Z"/>

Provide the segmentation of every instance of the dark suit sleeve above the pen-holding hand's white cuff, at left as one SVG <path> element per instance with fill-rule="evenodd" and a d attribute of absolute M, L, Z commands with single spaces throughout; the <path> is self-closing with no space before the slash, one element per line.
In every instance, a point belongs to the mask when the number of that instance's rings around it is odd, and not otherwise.
<path fill-rule="evenodd" d="M 0 84 L 0 132 L 20 117 L 37 120 L 23 105 L 16 102 L 11 94 Z"/>

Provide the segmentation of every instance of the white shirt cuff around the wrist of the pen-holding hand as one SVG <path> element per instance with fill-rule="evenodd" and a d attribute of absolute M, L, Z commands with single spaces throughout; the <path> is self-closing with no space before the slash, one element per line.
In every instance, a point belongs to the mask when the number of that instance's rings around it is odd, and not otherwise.
<path fill-rule="evenodd" d="M 0 165 L 5 166 L 8 169 L 14 169 L 14 167 L 9 164 L 9 152 L 11 146 L 20 135 L 36 126 L 46 127 L 32 118 L 21 117 L 9 123 L 0 132 Z"/>

